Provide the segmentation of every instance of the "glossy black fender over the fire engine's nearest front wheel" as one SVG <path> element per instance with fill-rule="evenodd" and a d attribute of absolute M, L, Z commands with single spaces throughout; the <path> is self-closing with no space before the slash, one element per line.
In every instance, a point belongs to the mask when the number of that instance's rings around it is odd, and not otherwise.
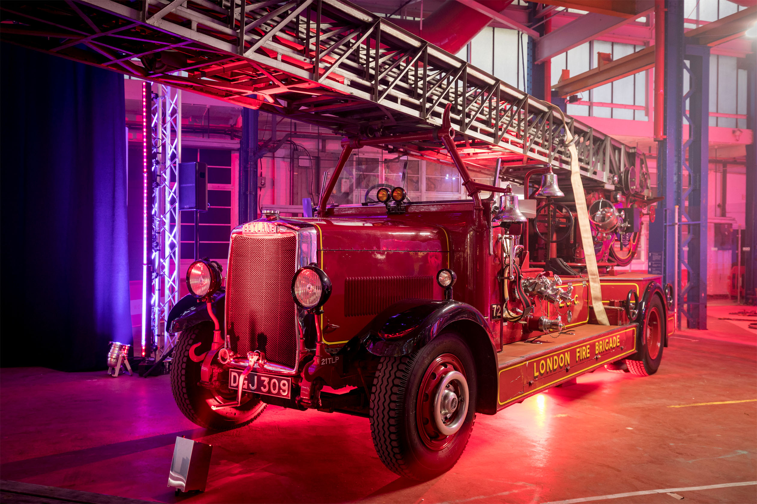
<path fill-rule="evenodd" d="M 421 348 L 450 323 L 463 320 L 480 326 L 491 342 L 488 323 L 471 305 L 460 301 L 428 299 L 406 299 L 394 303 L 378 314 L 358 339 L 374 355 L 398 357 Z"/>

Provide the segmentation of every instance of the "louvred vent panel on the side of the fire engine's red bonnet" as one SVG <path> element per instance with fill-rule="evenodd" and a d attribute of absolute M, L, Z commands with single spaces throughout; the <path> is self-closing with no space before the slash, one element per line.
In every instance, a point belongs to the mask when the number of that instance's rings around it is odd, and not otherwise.
<path fill-rule="evenodd" d="M 403 299 L 431 299 L 434 277 L 352 277 L 344 280 L 344 315 L 378 315 Z"/>

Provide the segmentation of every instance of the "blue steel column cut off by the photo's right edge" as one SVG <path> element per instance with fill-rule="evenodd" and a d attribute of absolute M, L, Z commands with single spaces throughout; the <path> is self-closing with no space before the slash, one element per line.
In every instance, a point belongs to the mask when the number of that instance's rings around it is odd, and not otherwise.
<path fill-rule="evenodd" d="M 757 40 L 752 41 L 752 54 L 757 52 Z M 747 58 L 749 59 L 749 58 Z M 757 60 L 751 58 L 746 70 L 746 127 L 757 134 Z M 746 226 L 742 242 L 743 261 L 746 264 L 744 292 L 747 299 L 757 295 L 757 138 L 746 146 Z M 757 305 L 757 298 L 752 298 Z"/>

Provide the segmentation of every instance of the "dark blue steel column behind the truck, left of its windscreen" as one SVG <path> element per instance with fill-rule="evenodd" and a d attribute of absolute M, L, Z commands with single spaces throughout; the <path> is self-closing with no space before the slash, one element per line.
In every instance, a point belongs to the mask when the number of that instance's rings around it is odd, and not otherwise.
<path fill-rule="evenodd" d="M 260 110 L 241 110 L 239 145 L 239 222 L 257 219 L 257 132 Z"/>

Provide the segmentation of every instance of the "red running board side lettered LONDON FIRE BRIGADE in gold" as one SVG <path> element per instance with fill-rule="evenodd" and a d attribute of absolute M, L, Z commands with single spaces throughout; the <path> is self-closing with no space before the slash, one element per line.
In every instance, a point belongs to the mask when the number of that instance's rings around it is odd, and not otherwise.
<path fill-rule="evenodd" d="M 636 324 L 585 324 L 505 345 L 498 354 L 497 410 L 636 351 Z"/>

